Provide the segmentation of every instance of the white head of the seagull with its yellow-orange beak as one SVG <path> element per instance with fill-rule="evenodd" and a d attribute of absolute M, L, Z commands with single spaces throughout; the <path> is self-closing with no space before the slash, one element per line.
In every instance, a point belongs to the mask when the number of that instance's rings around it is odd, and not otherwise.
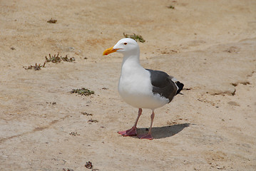
<path fill-rule="evenodd" d="M 133 55 L 140 53 L 138 43 L 132 38 L 122 38 L 115 46 L 107 48 L 103 55 L 108 55 L 113 52 L 123 53 L 123 55 L 129 54 Z"/>

